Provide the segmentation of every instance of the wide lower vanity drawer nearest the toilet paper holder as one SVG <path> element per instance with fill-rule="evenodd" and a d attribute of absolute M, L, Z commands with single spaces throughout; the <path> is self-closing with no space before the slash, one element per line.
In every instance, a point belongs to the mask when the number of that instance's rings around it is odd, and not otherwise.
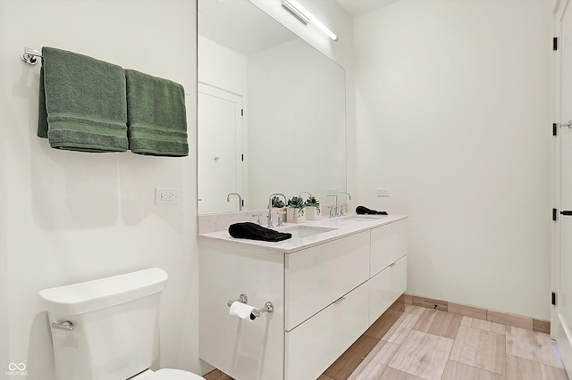
<path fill-rule="evenodd" d="M 314 317 L 284 333 L 286 380 L 316 379 L 368 324 L 369 285 L 363 284 Z"/>

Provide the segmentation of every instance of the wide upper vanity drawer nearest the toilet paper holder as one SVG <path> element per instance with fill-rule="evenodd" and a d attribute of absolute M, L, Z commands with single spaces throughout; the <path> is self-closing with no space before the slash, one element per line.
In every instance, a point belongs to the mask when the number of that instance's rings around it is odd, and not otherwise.
<path fill-rule="evenodd" d="M 369 231 L 286 255 L 284 326 L 295 326 L 369 278 Z"/>

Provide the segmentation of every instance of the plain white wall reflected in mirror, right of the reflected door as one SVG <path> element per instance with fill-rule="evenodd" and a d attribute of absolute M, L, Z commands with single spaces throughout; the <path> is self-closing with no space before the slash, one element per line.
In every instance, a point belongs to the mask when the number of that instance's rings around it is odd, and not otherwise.
<path fill-rule="evenodd" d="M 334 80 L 335 79 L 335 80 Z M 345 76 L 299 38 L 248 57 L 250 205 L 346 186 Z"/>

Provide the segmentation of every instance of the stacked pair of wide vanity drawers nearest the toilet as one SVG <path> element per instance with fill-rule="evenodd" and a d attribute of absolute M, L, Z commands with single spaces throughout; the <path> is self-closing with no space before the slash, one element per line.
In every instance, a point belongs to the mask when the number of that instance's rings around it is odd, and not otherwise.
<path fill-rule="evenodd" d="M 366 331 L 369 231 L 285 257 L 285 379 L 320 376 Z"/>

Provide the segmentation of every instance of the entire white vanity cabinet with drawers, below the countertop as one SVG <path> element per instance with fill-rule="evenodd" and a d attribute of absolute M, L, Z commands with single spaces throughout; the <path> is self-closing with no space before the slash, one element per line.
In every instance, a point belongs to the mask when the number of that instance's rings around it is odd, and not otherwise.
<path fill-rule="evenodd" d="M 405 218 L 357 223 L 283 252 L 201 236 L 200 358 L 237 380 L 319 377 L 406 290 Z M 241 293 L 257 309 L 272 302 L 273 312 L 230 316 L 227 302 Z"/>

